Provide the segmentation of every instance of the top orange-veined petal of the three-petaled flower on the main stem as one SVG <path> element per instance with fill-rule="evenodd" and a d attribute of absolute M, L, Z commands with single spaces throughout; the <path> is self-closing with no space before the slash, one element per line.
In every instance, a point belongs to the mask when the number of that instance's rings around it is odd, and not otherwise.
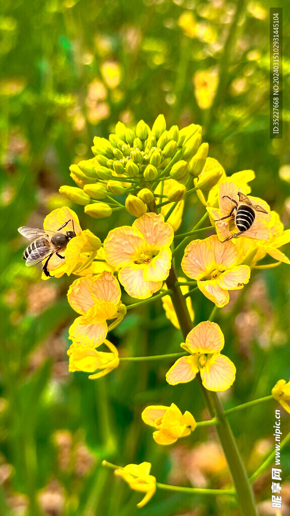
<path fill-rule="evenodd" d="M 189 353 L 215 353 L 224 346 L 223 333 L 216 322 L 203 321 L 192 329 L 182 346 Z"/>

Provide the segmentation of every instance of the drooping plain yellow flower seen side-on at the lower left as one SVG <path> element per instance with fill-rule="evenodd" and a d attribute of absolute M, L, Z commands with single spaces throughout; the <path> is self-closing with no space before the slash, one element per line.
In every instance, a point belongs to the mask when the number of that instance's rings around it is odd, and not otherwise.
<path fill-rule="evenodd" d="M 118 367 L 119 353 L 118 349 L 111 342 L 105 340 L 105 346 L 110 352 L 97 351 L 93 348 L 84 348 L 77 344 L 72 344 L 68 350 L 69 371 L 84 371 L 85 373 L 93 373 L 97 369 L 100 372 L 90 375 L 90 379 L 101 378 Z"/>

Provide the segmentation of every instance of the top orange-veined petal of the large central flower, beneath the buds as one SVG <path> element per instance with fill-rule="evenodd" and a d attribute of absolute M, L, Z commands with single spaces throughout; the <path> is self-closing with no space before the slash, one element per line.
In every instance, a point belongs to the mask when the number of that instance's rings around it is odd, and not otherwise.
<path fill-rule="evenodd" d="M 145 213 L 133 222 L 133 228 L 140 231 L 152 248 L 169 247 L 172 244 L 174 231 L 168 222 L 164 222 L 163 215 Z"/>

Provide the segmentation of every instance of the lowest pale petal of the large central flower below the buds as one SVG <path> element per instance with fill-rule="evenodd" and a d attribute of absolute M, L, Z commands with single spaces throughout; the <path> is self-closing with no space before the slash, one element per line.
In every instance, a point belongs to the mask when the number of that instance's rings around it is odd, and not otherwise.
<path fill-rule="evenodd" d="M 143 279 L 144 265 L 126 265 L 119 272 L 119 281 L 125 291 L 137 299 L 147 299 L 162 287 L 162 281 L 146 281 Z"/>

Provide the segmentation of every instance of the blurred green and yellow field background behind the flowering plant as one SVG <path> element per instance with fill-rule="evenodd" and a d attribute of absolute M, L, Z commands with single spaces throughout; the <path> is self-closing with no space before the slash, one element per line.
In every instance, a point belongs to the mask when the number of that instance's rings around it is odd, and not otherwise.
<path fill-rule="evenodd" d="M 274 5 L 273 5 L 274 4 Z M 152 462 L 160 482 L 224 487 L 230 482 L 212 429 L 157 446 L 141 421 L 148 404 L 205 417 L 196 382 L 169 386 L 171 363 L 122 363 L 89 381 L 68 373 L 69 278 L 40 281 L 22 261 L 20 225 L 42 225 L 65 203 L 69 166 L 92 157 L 93 136 L 118 120 L 204 126 L 203 141 L 227 174 L 253 169 L 252 193 L 290 218 L 289 11 L 284 9 L 284 133 L 269 138 L 269 7 L 225 0 L 7 0 L 0 14 L 0 514 L 4 516 L 207 516 L 238 514 L 231 501 L 159 491 L 141 494 L 101 466 Z M 126 214 L 95 221 L 72 206 L 100 238 Z M 120 213 L 120 212 L 118 212 Z M 181 231 L 203 207 L 192 196 Z M 283 249 L 284 250 L 284 249 Z M 285 250 L 290 255 L 290 250 Z M 225 354 L 236 364 L 225 408 L 270 394 L 290 375 L 290 269 L 253 272 L 250 284 L 218 311 Z M 212 303 L 193 299 L 196 322 Z M 160 304 L 128 313 L 110 340 L 123 356 L 179 351 L 181 333 Z M 231 416 L 250 473 L 273 450 L 274 402 Z M 282 431 L 289 431 L 281 409 Z M 290 511 L 290 453 L 282 454 L 283 514 Z M 271 511 L 271 475 L 256 483 L 260 512 Z M 288 507 L 288 509 L 287 509 Z M 268 511 L 268 512 L 267 512 Z M 274 512 L 273 512 L 274 513 Z"/>

